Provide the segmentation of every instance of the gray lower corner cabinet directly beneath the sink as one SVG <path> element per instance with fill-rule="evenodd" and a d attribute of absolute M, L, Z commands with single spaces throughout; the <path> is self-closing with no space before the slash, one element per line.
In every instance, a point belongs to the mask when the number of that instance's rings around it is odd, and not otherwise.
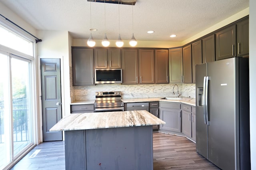
<path fill-rule="evenodd" d="M 181 132 L 181 104 L 172 102 L 159 102 L 160 119 L 166 124 L 160 125 L 161 130 L 168 132 Z"/>

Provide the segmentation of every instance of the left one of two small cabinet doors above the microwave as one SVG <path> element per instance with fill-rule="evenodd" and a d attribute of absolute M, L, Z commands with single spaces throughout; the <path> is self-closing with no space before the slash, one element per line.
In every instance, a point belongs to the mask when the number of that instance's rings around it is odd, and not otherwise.
<path fill-rule="evenodd" d="M 94 51 L 94 68 L 96 68 L 96 69 L 107 69 L 108 68 L 107 49 L 95 49 L 95 51 Z"/>

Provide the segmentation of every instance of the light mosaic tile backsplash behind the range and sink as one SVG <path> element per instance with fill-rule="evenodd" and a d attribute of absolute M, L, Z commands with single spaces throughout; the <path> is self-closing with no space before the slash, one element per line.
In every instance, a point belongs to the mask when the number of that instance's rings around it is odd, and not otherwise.
<path fill-rule="evenodd" d="M 88 86 L 73 86 L 70 91 L 71 102 L 79 100 L 94 100 L 96 91 L 121 91 L 122 99 L 172 97 L 177 95 L 175 84 L 146 84 L 146 85 L 121 85 L 97 84 Z M 179 93 L 185 97 L 196 97 L 195 84 L 177 83 Z M 174 87 L 174 95 L 173 95 Z"/>

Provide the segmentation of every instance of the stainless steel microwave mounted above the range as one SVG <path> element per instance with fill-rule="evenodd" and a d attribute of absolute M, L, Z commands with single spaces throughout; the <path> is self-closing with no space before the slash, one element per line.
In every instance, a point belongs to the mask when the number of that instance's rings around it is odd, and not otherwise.
<path fill-rule="evenodd" d="M 95 84 L 114 84 L 122 82 L 122 69 L 95 69 Z"/>

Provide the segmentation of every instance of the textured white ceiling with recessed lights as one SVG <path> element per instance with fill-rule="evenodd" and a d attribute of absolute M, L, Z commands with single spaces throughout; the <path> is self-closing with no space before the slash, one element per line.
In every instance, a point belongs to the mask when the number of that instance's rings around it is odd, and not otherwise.
<path fill-rule="evenodd" d="M 73 38 L 90 35 L 90 3 L 94 39 L 118 38 L 118 4 L 87 0 L 0 0 L 37 30 L 67 30 Z M 187 38 L 249 7 L 249 0 L 137 0 L 134 6 L 119 5 L 120 35 L 146 41 L 184 41 Z M 1 12 L 0 12 L 1 14 Z M 154 30 L 154 34 L 147 34 Z M 170 38 L 176 34 L 176 38 Z"/>

